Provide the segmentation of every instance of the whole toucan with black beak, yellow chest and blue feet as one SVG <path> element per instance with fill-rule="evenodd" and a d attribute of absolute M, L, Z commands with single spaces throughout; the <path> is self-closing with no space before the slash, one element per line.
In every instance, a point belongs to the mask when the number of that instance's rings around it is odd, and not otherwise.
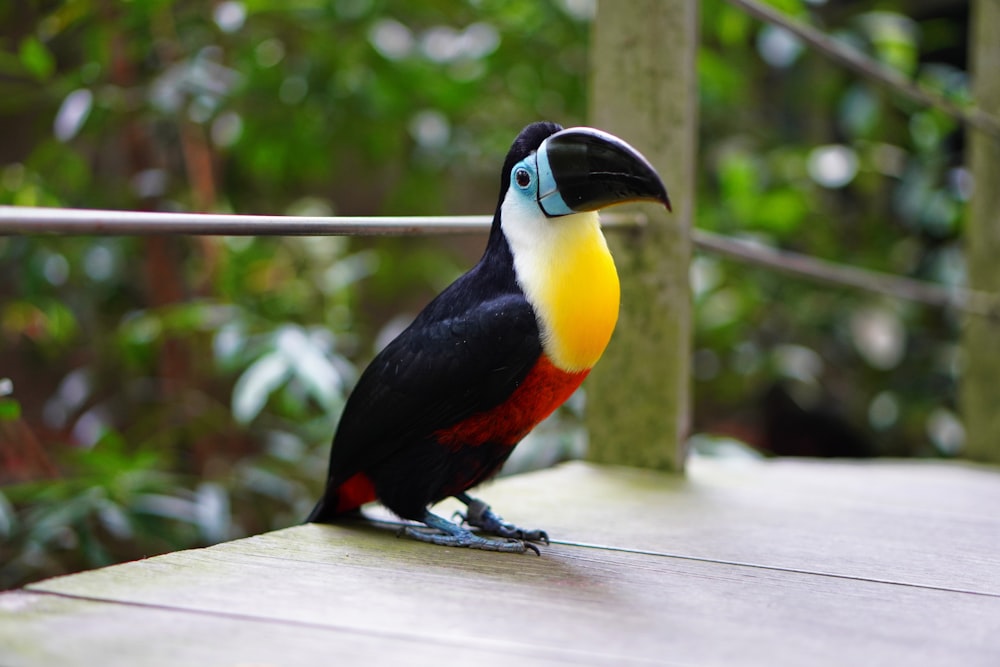
<path fill-rule="evenodd" d="M 482 258 L 361 374 L 308 521 L 379 500 L 424 524 L 404 527 L 409 537 L 537 554 L 545 531 L 504 521 L 467 491 L 498 472 L 604 352 L 619 282 L 597 211 L 637 200 L 670 208 L 656 170 L 623 140 L 548 122 L 524 128 L 504 161 Z M 451 496 L 467 508 L 461 523 L 429 509 Z"/>

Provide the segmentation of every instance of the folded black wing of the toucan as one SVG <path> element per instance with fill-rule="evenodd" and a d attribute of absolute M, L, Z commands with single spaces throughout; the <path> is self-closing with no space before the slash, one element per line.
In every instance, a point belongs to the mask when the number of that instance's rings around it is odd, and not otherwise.
<path fill-rule="evenodd" d="M 499 405 L 540 354 L 535 314 L 520 294 L 418 318 L 375 357 L 348 399 L 328 484 L 335 488 L 407 442 Z"/>

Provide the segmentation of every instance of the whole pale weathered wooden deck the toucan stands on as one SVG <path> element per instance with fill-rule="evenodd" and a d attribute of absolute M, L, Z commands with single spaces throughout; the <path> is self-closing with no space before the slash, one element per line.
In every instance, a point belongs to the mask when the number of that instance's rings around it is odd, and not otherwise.
<path fill-rule="evenodd" d="M 1000 665 L 996 469 L 574 463 L 481 495 L 559 541 L 300 526 L 51 579 L 0 595 L 0 665 Z"/>

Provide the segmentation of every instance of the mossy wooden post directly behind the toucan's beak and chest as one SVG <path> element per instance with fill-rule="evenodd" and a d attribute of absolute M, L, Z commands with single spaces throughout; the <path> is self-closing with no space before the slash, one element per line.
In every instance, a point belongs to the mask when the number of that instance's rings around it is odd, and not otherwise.
<path fill-rule="evenodd" d="M 697 142 L 697 0 L 602 0 L 591 44 L 590 123 L 638 148 L 674 212 L 609 235 L 618 327 L 587 383 L 589 458 L 682 471 L 690 423 L 688 265 Z"/>

